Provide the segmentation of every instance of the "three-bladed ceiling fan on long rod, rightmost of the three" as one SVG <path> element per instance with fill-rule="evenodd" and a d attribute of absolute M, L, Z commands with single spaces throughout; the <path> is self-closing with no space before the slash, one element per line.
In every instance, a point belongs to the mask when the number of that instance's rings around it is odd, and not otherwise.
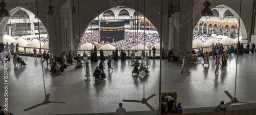
<path fill-rule="evenodd" d="M 240 1 L 240 14 L 241 14 L 241 3 L 242 3 L 242 0 Z M 240 15 L 240 14 L 239 14 L 239 15 Z M 239 27 L 238 27 L 238 28 L 240 28 L 240 17 L 239 17 Z M 239 33 L 240 33 L 240 31 L 239 31 Z M 238 41 L 239 41 L 239 39 L 238 39 Z M 237 53 L 238 53 L 238 51 L 237 51 Z M 231 96 L 228 91 L 224 91 L 224 93 L 225 93 L 225 94 L 228 96 L 228 98 L 230 99 L 230 102 L 227 102 L 227 103 L 221 105 L 221 106 L 220 106 L 221 108 L 227 107 L 227 106 L 229 106 L 229 105 L 231 105 L 231 104 L 234 104 L 234 103 L 246 103 L 246 104 L 256 105 L 256 104 L 254 104 L 254 103 L 242 102 L 242 101 L 238 101 L 238 100 L 237 100 L 237 98 L 236 98 L 237 70 L 238 70 L 237 67 L 238 67 L 238 55 L 237 55 L 237 64 L 236 64 L 236 81 L 235 81 L 235 84 L 234 84 L 234 97 Z"/>

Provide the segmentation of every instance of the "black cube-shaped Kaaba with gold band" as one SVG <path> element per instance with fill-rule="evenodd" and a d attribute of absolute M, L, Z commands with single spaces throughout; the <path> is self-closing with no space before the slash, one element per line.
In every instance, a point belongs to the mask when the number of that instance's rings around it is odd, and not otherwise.
<path fill-rule="evenodd" d="M 124 20 L 100 21 L 100 41 L 112 43 L 122 39 L 124 39 Z"/>

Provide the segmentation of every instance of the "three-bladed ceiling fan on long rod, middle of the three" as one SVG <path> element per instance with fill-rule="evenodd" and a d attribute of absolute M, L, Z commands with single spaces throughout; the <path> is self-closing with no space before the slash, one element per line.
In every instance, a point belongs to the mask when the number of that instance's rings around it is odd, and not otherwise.
<path fill-rule="evenodd" d="M 144 0 L 144 15 L 145 15 L 145 0 Z M 144 18 L 144 22 L 145 22 L 145 18 Z M 144 25 L 144 28 L 145 28 L 145 25 Z M 144 29 L 144 36 L 143 37 L 145 39 L 145 29 Z M 144 45 L 145 45 L 145 43 L 144 43 Z M 144 60 L 144 62 L 145 62 L 145 60 Z M 150 97 L 145 99 L 145 72 L 144 72 L 144 74 L 143 74 L 143 98 L 142 98 L 142 100 L 123 100 L 123 102 L 142 103 L 142 104 L 145 104 L 151 110 L 155 111 L 156 109 L 154 107 L 152 107 L 150 104 L 147 103 L 147 101 L 150 100 L 151 98 L 153 98 L 154 96 L 156 96 L 156 95 L 153 94 Z"/>

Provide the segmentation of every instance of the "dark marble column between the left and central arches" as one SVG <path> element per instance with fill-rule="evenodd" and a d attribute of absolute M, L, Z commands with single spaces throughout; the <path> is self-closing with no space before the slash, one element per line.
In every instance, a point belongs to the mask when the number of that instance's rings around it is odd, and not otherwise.
<path fill-rule="evenodd" d="M 55 15 L 48 15 L 49 49 L 56 56 L 61 55 L 64 50 L 73 50 L 75 53 L 74 50 L 78 49 L 79 44 L 79 40 L 74 43 L 72 12 L 68 8 L 72 6 L 63 7 L 64 4 L 65 1 L 60 0 L 53 2 Z"/>

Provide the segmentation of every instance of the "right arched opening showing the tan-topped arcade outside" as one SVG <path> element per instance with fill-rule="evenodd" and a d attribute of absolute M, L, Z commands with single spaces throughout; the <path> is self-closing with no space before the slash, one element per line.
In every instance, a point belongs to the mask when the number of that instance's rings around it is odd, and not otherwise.
<path fill-rule="evenodd" d="M 203 26 L 199 26 L 199 28 L 202 28 L 202 32 L 196 31 L 194 29 L 194 39 L 196 37 L 202 38 L 203 42 L 209 40 L 209 37 L 216 40 L 221 40 L 227 36 L 231 38 L 237 37 L 234 34 L 236 33 L 235 28 L 237 26 L 237 18 L 231 13 L 230 8 L 227 9 L 226 6 L 219 5 L 215 8 L 212 8 L 212 12 L 214 14 L 213 16 L 203 16 L 197 22 L 197 25 L 201 23 L 203 24 Z M 197 25 L 195 27 L 197 27 Z M 243 24 L 241 24 L 241 26 L 242 25 Z"/>

